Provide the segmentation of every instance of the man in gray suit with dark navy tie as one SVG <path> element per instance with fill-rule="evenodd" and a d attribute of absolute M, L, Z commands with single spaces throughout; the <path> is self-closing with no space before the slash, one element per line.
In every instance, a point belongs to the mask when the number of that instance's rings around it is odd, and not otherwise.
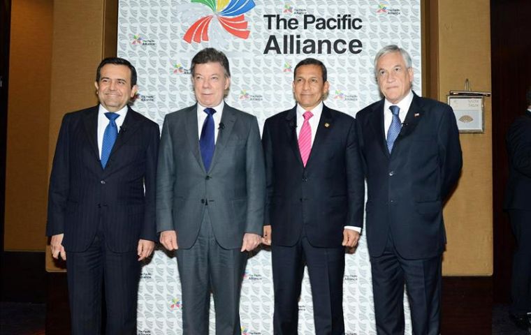
<path fill-rule="evenodd" d="M 166 115 L 157 170 L 157 231 L 177 250 L 184 334 L 240 334 L 247 252 L 261 242 L 266 177 L 256 117 L 224 102 L 226 56 L 213 48 L 191 61 L 196 105 Z"/>

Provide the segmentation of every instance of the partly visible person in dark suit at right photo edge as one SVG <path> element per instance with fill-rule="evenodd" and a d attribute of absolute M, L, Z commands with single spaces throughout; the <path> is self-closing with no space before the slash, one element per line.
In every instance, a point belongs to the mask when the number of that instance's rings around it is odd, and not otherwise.
<path fill-rule="evenodd" d="M 504 209 L 509 212 L 516 239 L 511 277 L 511 320 L 531 330 L 531 87 L 528 110 L 518 117 L 507 133 L 509 183 Z"/>

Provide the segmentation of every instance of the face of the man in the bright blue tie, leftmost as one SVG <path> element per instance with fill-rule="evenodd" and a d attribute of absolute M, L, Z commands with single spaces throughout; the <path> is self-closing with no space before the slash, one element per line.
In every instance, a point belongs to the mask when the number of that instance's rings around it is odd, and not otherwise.
<path fill-rule="evenodd" d="M 121 110 L 135 96 L 138 87 L 131 87 L 131 70 L 125 65 L 106 64 L 94 82 L 99 102 L 109 112 Z"/>

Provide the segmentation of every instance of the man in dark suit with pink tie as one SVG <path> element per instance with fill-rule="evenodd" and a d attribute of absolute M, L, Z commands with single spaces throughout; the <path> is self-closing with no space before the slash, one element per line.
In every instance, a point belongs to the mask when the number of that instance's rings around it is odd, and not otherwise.
<path fill-rule="evenodd" d="M 268 198 L 263 243 L 271 244 L 275 334 L 297 334 L 304 265 L 312 286 L 316 334 L 344 334 L 345 246 L 363 225 L 363 171 L 353 117 L 323 104 L 326 67 L 295 67 L 295 107 L 266 120 Z"/>

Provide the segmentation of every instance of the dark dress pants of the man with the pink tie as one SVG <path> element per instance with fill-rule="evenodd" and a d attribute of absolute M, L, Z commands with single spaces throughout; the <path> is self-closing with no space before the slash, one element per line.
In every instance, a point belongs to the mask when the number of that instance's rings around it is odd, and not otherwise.
<path fill-rule="evenodd" d="M 272 244 L 271 254 L 274 334 L 298 334 L 298 300 L 305 263 L 312 287 L 315 334 L 344 334 L 344 247 L 318 248 L 303 234 L 295 246 Z"/>

